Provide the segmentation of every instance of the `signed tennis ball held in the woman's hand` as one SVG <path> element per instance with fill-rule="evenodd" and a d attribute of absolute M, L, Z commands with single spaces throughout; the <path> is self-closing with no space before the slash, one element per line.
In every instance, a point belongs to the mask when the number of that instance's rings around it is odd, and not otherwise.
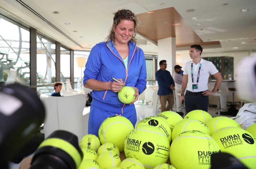
<path fill-rule="evenodd" d="M 135 90 L 131 88 L 130 86 L 124 86 L 119 92 L 118 92 L 118 99 L 120 102 L 125 104 L 130 104 L 135 99 Z"/>

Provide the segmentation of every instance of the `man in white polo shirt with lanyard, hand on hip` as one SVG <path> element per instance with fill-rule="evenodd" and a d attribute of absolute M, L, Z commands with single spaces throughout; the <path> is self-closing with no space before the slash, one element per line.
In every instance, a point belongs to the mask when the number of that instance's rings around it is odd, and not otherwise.
<path fill-rule="evenodd" d="M 180 103 L 185 100 L 186 112 L 192 110 L 208 111 L 209 95 L 214 95 L 222 82 L 220 72 L 212 62 L 201 58 L 203 48 L 200 45 L 190 46 L 189 55 L 193 59 L 185 64 L 181 83 Z M 208 79 L 210 74 L 216 78 L 212 91 L 208 91 Z M 184 97 L 184 91 L 187 92 Z"/>

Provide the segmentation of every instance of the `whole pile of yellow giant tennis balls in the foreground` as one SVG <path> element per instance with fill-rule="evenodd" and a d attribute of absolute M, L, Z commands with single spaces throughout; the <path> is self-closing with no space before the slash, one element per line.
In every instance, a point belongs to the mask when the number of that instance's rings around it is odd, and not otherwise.
<path fill-rule="evenodd" d="M 79 169 L 211 168 L 211 156 L 218 152 L 252 169 L 255 137 L 256 124 L 246 131 L 231 118 L 212 117 L 203 110 L 193 110 L 184 119 L 165 111 L 142 119 L 135 128 L 127 118 L 111 116 L 100 125 L 98 137 L 88 134 L 81 139 L 84 156 Z"/>

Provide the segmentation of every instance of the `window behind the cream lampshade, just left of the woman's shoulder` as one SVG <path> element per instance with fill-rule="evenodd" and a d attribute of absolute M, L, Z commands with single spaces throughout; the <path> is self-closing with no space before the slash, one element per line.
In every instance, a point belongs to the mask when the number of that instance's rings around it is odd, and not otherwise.
<path fill-rule="evenodd" d="M 78 67 L 76 63 L 76 57 L 88 57 L 90 51 L 74 51 L 74 81 L 76 90 L 81 90 L 81 75 L 84 78 L 84 67 Z M 83 80 L 82 80 L 83 81 Z"/>

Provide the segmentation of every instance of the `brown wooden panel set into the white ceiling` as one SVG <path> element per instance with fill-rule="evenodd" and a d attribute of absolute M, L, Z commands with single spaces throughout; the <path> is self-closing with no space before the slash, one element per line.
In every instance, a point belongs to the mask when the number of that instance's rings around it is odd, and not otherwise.
<path fill-rule="evenodd" d="M 219 41 L 203 42 L 173 7 L 138 14 L 137 17 L 140 20 L 138 32 L 156 43 L 159 39 L 176 37 L 176 47 L 220 45 Z"/>

